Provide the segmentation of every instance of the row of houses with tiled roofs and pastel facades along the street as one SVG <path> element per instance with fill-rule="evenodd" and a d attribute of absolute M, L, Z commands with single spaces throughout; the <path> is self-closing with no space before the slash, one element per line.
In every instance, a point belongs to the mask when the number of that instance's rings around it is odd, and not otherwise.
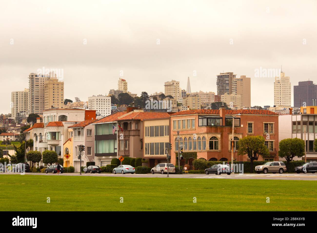
<path fill-rule="evenodd" d="M 317 112 L 317 111 L 316 111 Z M 303 127 L 297 124 L 307 124 L 296 120 L 296 135 L 300 135 Z M 295 116 L 295 117 L 299 117 Z M 166 162 L 167 151 L 165 143 L 172 143 L 171 163 L 176 163 L 178 145 L 183 145 L 184 152 L 197 152 L 197 158 L 206 160 L 231 160 L 232 123 L 234 119 L 234 159 L 247 161 L 247 155 L 238 155 L 237 142 L 247 135 L 260 135 L 265 139 L 269 149 L 267 157 L 260 160 L 277 161 L 280 128 L 283 137 L 289 131 L 289 138 L 294 136 L 294 123 L 283 123 L 280 127 L 277 113 L 268 110 L 241 109 L 227 110 L 184 110 L 177 113 L 145 112 L 138 107 L 128 106 L 125 112 L 116 112 L 100 120 L 95 118 L 94 110 L 85 109 L 51 109 L 43 112 L 43 122 L 34 124 L 24 131 L 26 139 L 34 140 L 34 149 L 40 152 L 54 150 L 64 158 L 64 166 L 74 166 L 80 169 L 79 145 L 85 145 L 85 155 L 81 158 L 82 165 L 95 162 L 105 166 L 113 158 L 133 157 L 144 158 L 152 167 Z M 291 118 L 294 115 L 290 115 Z M 307 116 L 308 117 L 308 116 Z M 309 117 L 310 119 L 310 117 Z M 298 123 L 300 122 L 300 123 Z M 315 126 L 315 121 L 313 121 Z M 286 127 L 289 127 L 287 130 Z M 117 130 L 113 131 L 116 128 Z M 317 135 L 316 127 L 312 128 Z M 298 134 L 299 135 L 299 134 Z M 179 136 L 179 144 L 178 144 Z M 310 151 L 310 140 L 314 136 L 307 135 L 308 157 L 316 159 L 316 152 Z M 64 157 L 69 154 L 69 159 Z M 182 160 L 184 165 L 184 160 Z M 191 160 L 189 161 L 191 165 Z"/>

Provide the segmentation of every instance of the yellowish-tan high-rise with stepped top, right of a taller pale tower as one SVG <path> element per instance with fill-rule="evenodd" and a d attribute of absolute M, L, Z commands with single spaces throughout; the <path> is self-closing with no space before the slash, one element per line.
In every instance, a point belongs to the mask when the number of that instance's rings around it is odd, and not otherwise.
<path fill-rule="evenodd" d="M 64 107 L 64 82 L 54 72 L 44 81 L 44 110 Z"/>

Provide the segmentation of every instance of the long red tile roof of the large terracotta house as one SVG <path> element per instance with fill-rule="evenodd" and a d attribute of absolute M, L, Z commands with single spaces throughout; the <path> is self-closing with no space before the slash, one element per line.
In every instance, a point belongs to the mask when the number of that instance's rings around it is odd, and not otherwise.
<path fill-rule="evenodd" d="M 278 113 L 271 112 L 269 110 L 258 110 L 258 109 L 238 109 L 238 110 L 228 110 L 226 109 L 225 114 L 257 114 L 257 115 L 278 115 Z M 171 114 L 171 116 L 177 115 L 189 115 L 189 114 L 220 114 L 219 109 L 193 109 L 184 110 L 177 113 Z"/>

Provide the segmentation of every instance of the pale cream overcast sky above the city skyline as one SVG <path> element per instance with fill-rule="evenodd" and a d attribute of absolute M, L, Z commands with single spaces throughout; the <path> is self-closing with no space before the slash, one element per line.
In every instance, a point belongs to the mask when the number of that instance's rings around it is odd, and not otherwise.
<path fill-rule="evenodd" d="M 188 76 L 217 92 L 224 71 L 251 78 L 252 106 L 273 106 L 274 77 L 255 69 L 282 65 L 293 104 L 293 85 L 317 79 L 316 24 L 317 1 L 1 1 L 0 113 L 42 67 L 63 70 L 72 100 L 117 89 L 120 71 L 138 95 Z"/>

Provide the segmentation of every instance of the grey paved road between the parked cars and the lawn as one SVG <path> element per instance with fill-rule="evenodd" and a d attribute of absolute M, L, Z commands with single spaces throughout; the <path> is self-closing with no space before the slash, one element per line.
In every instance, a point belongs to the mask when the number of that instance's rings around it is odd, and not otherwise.
<path fill-rule="evenodd" d="M 11 174 L 11 175 L 19 175 L 19 173 L 0 173 L 2 174 Z M 46 173 L 27 173 L 27 175 L 36 175 L 36 176 L 57 176 L 57 174 L 46 174 Z M 96 174 L 90 174 L 90 173 L 82 173 L 81 175 L 79 173 L 63 173 L 60 174 L 60 176 L 99 176 L 99 177 L 131 177 L 131 178 L 138 178 L 138 177 L 147 177 L 147 178 L 153 178 L 153 177 L 159 177 L 159 178 L 166 178 L 167 174 L 112 174 L 112 173 L 96 173 Z M 216 175 L 216 174 L 182 174 L 182 175 L 175 175 L 170 174 L 170 178 L 198 178 L 198 179 L 271 179 L 271 180 L 315 180 L 317 181 L 317 174 L 307 173 L 307 174 L 294 174 L 294 173 L 283 173 L 283 174 L 222 174 L 222 175 Z"/>

